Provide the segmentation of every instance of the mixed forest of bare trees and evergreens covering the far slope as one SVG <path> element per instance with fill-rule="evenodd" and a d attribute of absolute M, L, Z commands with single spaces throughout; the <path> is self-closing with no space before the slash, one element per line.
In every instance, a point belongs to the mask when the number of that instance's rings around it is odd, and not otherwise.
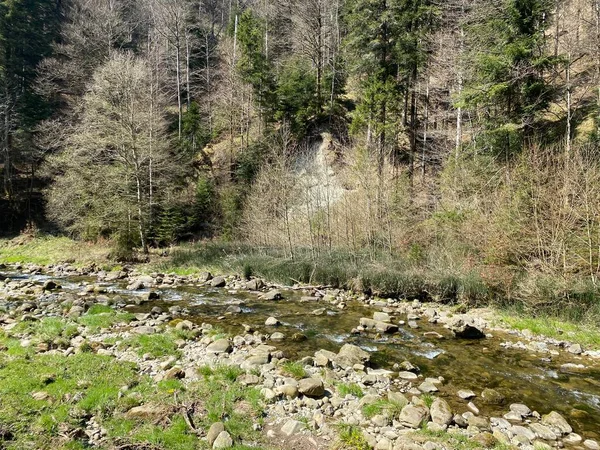
<path fill-rule="evenodd" d="M 600 0 L 5 0 L 0 36 L 2 234 L 600 309 Z"/>

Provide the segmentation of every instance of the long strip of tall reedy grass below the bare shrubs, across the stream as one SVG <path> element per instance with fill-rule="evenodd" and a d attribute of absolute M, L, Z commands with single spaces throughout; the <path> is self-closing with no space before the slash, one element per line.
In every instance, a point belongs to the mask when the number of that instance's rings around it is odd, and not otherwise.
<path fill-rule="evenodd" d="M 175 249 L 171 259 L 157 269 L 163 272 L 251 273 L 285 284 L 297 282 L 353 288 L 381 296 L 454 300 L 480 299 L 491 294 L 481 278 L 465 274 L 438 273 L 418 266 L 410 258 L 388 252 L 331 250 L 314 257 L 310 249 L 297 248 L 294 259 L 277 248 L 208 242 Z M 423 274 L 427 273 L 427 276 Z"/>

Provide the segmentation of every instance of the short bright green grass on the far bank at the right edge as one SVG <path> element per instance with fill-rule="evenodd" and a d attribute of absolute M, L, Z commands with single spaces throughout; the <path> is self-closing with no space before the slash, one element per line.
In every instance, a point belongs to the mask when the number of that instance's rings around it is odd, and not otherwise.
<path fill-rule="evenodd" d="M 574 323 L 556 317 L 526 317 L 503 312 L 504 324 L 516 330 L 530 330 L 533 334 L 577 342 L 581 345 L 600 348 L 600 329 L 591 325 Z"/>

